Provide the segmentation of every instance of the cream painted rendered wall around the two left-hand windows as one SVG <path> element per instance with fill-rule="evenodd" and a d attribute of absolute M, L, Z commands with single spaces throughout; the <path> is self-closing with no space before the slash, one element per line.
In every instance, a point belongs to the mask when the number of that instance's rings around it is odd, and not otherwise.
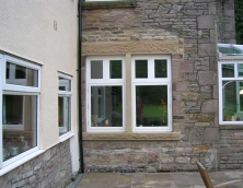
<path fill-rule="evenodd" d="M 42 63 L 40 149 L 59 143 L 58 71 L 73 77 L 71 139 L 73 172 L 78 152 L 78 0 L 0 0 L 0 52 Z M 54 30 L 57 22 L 57 31 Z"/>

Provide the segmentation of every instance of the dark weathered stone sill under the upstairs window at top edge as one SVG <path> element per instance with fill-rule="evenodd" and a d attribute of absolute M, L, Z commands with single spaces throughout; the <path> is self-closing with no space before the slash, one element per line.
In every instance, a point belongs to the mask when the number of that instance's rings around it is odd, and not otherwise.
<path fill-rule="evenodd" d="M 136 0 L 82 2 L 83 9 L 118 9 L 135 7 Z"/>

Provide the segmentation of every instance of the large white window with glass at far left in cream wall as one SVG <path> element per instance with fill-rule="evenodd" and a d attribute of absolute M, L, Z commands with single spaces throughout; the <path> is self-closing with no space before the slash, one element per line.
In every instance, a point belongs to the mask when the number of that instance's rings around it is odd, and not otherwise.
<path fill-rule="evenodd" d="M 38 150 L 40 67 L 0 55 L 0 167 Z"/>

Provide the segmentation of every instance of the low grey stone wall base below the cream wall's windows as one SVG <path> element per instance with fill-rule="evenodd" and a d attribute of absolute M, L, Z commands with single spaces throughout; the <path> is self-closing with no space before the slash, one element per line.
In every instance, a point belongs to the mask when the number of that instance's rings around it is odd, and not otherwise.
<path fill-rule="evenodd" d="M 0 187 L 66 187 L 72 176 L 69 140 L 0 177 Z"/>

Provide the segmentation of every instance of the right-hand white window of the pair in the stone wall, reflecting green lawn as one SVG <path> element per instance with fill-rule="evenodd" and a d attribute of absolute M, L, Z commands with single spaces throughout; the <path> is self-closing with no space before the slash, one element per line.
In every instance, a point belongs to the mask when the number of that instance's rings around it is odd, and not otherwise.
<path fill-rule="evenodd" d="M 171 57 L 132 56 L 132 130 L 172 130 Z"/>

